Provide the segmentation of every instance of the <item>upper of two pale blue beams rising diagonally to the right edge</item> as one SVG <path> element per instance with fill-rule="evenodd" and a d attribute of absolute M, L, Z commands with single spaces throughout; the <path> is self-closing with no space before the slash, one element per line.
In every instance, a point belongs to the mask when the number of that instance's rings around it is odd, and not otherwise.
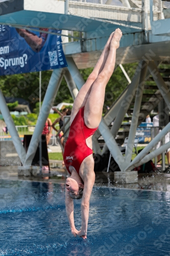
<path fill-rule="evenodd" d="M 133 169 L 133 166 L 138 164 L 165 135 L 170 131 L 170 122 L 162 129 L 162 131 L 155 136 L 155 138 L 143 148 L 143 150 L 133 159 L 133 161 L 126 167 L 125 170 Z M 159 154 L 158 154 L 159 155 Z"/>

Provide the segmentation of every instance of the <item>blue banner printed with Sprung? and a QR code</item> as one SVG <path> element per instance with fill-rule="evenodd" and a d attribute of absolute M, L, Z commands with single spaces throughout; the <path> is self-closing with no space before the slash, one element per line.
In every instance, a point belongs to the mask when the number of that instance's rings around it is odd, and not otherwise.
<path fill-rule="evenodd" d="M 0 75 L 67 67 L 61 36 L 46 33 L 61 30 L 36 30 L 0 25 Z"/>

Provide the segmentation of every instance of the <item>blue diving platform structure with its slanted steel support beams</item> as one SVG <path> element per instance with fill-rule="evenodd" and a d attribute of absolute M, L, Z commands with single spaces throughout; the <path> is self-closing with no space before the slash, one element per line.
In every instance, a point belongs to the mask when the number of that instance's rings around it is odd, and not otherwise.
<path fill-rule="evenodd" d="M 14 0 L 13 2 L 0 0 L 0 8 L 2 10 L 1 25 L 33 31 L 37 28 L 39 31 L 41 28 L 61 29 L 64 38 L 63 50 L 68 67 L 54 70 L 52 73 L 51 89 L 47 88 L 33 141 L 38 140 L 40 135 L 38 126 L 43 126 L 48 116 L 47 112 L 43 114 L 43 110 L 47 105 L 52 104 L 62 78 L 65 77 L 70 93 L 75 98 L 85 82 L 79 69 L 94 67 L 109 35 L 119 27 L 123 32 L 123 37 L 117 49 L 116 65 L 138 62 L 138 67 L 132 81 L 128 80 L 125 91 L 102 118 L 99 130 L 93 137 L 94 152 L 104 154 L 109 150 L 120 170 L 129 172 L 135 166 L 155 158 L 170 147 L 170 142 L 168 142 L 159 150 L 153 150 L 155 145 L 170 131 L 170 123 L 167 123 L 162 132 L 131 162 L 138 124 L 162 99 L 170 109 L 168 76 L 162 76 L 162 71 L 159 69 L 161 62 L 170 63 L 170 2 L 161 0 L 37 0 L 34 5 L 29 0 Z M 70 35 L 67 31 L 73 32 Z M 76 36 L 75 32 L 78 32 Z M 50 31 L 44 33 L 50 33 Z M 73 38 L 73 41 L 65 39 L 69 37 Z M 123 70 L 123 66 L 121 67 Z M 123 73 L 128 79 L 125 70 Z M 152 83 L 149 84 L 148 79 Z M 152 95 L 144 93 L 153 86 L 155 88 Z M 140 96 L 139 91 L 142 92 Z M 6 108 L 5 103 L 0 105 L 0 109 L 3 107 Z M 133 114 L 129 128 L 128 151 L 123 156 L 115 142 L 115 137 L 128 112 L 133 112 Z M 109 129 L 108 126 L 113 120 L 114 123 Z M 101 135 L 105 140 L 102 152 L 98 143 Z M 37 143 L 31 143 L 30 148 L 36 148 Z M 21 152 L 21 145 L 16 145 L 16 147 L 19 147 L 18 152 Z M 152 153 L 149 153 L 151 150 Z M 27 154 L 20 153 L 20 155 L 23 166 L 29 166 L 34 157 L 33 151 L 28 150 Z"/>

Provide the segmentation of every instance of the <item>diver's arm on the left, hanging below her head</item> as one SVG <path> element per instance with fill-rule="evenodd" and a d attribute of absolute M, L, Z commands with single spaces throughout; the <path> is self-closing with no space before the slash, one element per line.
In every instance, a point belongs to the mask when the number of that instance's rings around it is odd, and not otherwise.
<path fill-rule="evenodd" d="M 66 189 L 65 189 L 65 208 L 66 208 L 66 214 L 69 221 L 69 225 L 71 228 L 71 233 L 74 235 L 74 237 L 76 237 L 78 230 L 75 227 L 75 221 L 74 221 L 74 203 L 73 203 L 73 199 L 69 196 Z"/>

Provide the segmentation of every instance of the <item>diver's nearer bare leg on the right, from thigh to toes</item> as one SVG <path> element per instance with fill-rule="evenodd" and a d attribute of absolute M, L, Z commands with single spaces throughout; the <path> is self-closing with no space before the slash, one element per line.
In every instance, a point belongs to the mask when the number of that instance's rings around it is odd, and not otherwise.
<path fill-rule="evenodd" d="M 93 82 L 90 94 L 86 101 L 84 120 L 89 128 L 98 127 L 100 124 L 105 99 L 105 88 L 114 70 L 116 49 L 119 47 L 121 37 L 122 31 L 120 29 L 116 29 L 110 41 L 110 51 L 103 70 Z"/>

